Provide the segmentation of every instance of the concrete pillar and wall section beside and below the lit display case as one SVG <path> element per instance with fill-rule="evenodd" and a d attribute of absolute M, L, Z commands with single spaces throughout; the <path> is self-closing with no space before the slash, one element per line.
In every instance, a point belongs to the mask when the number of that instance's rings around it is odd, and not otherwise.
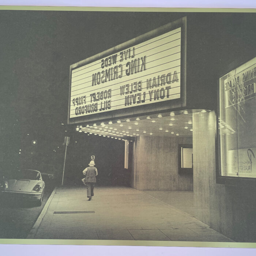
<path fill-rule="evenodd" d="M 193 114 L 195 217 L 237 242 L 256 242 L 256 189 L 216 183 L 216 117 Z"/>

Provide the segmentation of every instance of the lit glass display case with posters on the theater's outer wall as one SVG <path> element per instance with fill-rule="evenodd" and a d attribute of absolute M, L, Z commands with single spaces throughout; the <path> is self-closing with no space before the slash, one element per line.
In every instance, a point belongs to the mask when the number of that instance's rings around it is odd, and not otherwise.
<path fill-rule="evenodd" d="M 219 79 L 218 183 L 256 178 L 255 106 L 256 57 Z"/>

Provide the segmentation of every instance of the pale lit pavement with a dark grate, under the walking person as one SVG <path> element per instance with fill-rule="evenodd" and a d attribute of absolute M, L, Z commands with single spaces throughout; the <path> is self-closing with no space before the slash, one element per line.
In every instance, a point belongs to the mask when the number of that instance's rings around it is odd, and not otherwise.
<path fill-rule="evenodd" d="M 94 193 L 87 201 L 85 187 L 57 188 L 27 238 L 233 242 L 154 193 L 127 187 L 96 187 Z"/>

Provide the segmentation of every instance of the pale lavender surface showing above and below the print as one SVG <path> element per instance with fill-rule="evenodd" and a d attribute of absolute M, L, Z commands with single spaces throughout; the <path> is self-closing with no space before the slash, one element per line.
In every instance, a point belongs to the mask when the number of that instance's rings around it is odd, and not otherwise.
<path fill-rule="evenodd" d="M 0 5 L 91 6 L 91 7 L 172 7 L 172 8 L 256 8 L 255 0 L 0 0 Z M 90 245 L 0 245 L 1 255 L 159 255 L 159 256 L 240 256 L 256 255 L 252 248 L 204 248 L 158 246 L 90 246 Z"/>

